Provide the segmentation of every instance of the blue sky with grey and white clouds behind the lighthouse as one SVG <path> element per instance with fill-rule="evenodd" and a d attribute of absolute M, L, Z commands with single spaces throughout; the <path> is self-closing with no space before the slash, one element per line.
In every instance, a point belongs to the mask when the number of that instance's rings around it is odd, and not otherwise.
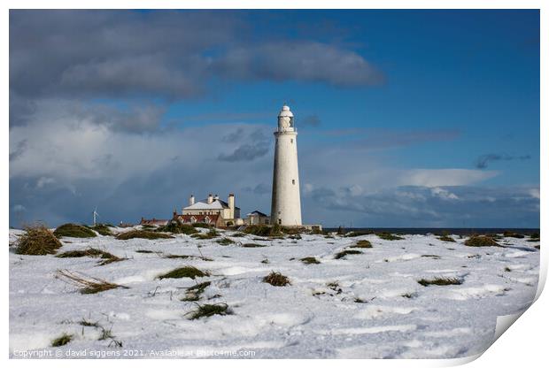
<path fill-rule="evenodd" d="M 270 213 L 298 128 L 304 223 L 539 226 L 539 12 L 10 11 L 10 225 Z"/>

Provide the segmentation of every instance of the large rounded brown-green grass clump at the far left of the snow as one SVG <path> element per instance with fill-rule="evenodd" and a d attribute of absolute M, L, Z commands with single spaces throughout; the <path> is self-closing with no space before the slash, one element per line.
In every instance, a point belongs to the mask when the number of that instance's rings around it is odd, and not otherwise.
<path fill-rule="evenodd" d="M 27 256 L 54 254 L 63 244 L 43 225 L 27 226 L 15 242 L 15 253 Z"/>

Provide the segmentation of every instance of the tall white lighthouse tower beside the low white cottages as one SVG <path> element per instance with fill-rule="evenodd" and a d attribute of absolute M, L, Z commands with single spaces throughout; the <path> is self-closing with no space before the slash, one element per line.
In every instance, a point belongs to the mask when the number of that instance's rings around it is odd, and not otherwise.
<path fill-rule="evenodd" d="M 294 115 L 284 105 L 278 114 L 278 129 L 274 132 L 274 173 L 271 223 L 301 226 L 299 196 L 298 131 Z"/>

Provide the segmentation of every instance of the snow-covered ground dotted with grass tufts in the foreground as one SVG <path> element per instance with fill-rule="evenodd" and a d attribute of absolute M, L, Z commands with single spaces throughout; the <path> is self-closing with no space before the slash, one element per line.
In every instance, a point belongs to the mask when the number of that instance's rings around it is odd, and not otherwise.
<path fill-rule="evenodd" d="M 19 233 L 10 230 L 10 241 Z M 11 249 L 11 357 L 28 349 L 48 349 L 57 357 L 197 357 L 227 351 L 261 358 L 468 357 L 491 344 L 497 316 L 528 308 L 537 289 L 539 251 L 534 247 L 539 243 L 527 239 L 505 238 L 499 241 L 504 248 L 471 248 L 457 236 L 452 243 L 435 235 L 405 235 L 400 241 L 374 234 L 231 238 L 266 245 L 244 248 L 174 236 L 155 241 L 64 238 L 58 251 L 93 247 L 128 258 L 109 265 L 97 265 L 91 257 L 19 256 Z M 373 248 L 334 259 L 362 239 Z M 162 257 L 167 254 L 197 257 Z M 321 264 L 305 265 L 299 260 L 303 257 L 316 257 Z M 157 278 L 182 265 L 212 276 Z M 58 269 L 128 288 L 81 295 L 55 278 Z M 291 285 L 262 282 L 271 271 L 288 276 Z M 463 283 L 423 287 L 417 282 L 434 277 Z M 212 283 L 199 301 L 181 301 L 186 288 L 206 280 Z M 190 320 L 189 311 L 204 303 L 227 303 L 233 314 Z M 98 340 L 101 330 L 81 326 L 82 318 L 110 328 L 122 348 L 111 338 Z M 73 341 L 50 348 L 64 333 L 73 334 Z"/>

